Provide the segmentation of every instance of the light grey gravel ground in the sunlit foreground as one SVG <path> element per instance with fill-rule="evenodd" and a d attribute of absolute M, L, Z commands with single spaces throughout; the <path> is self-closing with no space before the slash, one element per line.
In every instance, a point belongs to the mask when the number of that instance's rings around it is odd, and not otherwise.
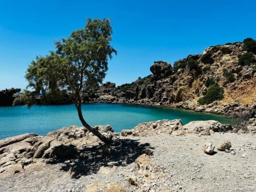
<path fill-rule="evenodd" d="M 159 174 L 164 173 L 165 176 L 155 179 L 152 192 L 256 192 L 256 135 L 161 134 L 121 138 L 148 143 L 154 150 L 150 158 L 158 165 Z M 235 155 L 217 150 L 217 145 L 224 140 L 231 142 Z M 205 154 L 203 147 L 206 142 L 212 142 L 217 153 Z M 116 165 L 116 162 L 107 163 L 109 167 L 88 171 L 80 177 L 72 177 L 72 171 L 63 169 L 63 163 L 49 165 L 38 171 L 17 173 L 12 177 L 0 178 L 0 191 L 84 192 L 87 185 L 96 182 L 118 182 L 127 192 L 141 190 L 125 180 L 137 174 L 135 162 L 114 168 L 111 168 L 111 164 Z"/>

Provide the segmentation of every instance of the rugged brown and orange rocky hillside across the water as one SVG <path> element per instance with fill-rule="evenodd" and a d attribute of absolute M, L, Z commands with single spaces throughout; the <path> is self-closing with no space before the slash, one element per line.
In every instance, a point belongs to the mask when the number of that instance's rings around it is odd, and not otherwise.
<path fill-rule="evenodd" d="M 155 61 L 150 67 L 151 75 L 118 87 L 108 82 L 85 100 L 178 107 L 236 116 L 241 110 L 251 118 L 256 109 L 255 49 L 256 41 L 247 38 L 244 42 L 206 48 L 202 54 L 174 62 L 173 67 L 168 62 Z M 210 98 L 200 105 L 198 100 L 208 96 L 207 90 L 211 92 L 210 87 L 215 84 L 220 90 L 223 87 L 223 96 L 214 103 Z"/>

